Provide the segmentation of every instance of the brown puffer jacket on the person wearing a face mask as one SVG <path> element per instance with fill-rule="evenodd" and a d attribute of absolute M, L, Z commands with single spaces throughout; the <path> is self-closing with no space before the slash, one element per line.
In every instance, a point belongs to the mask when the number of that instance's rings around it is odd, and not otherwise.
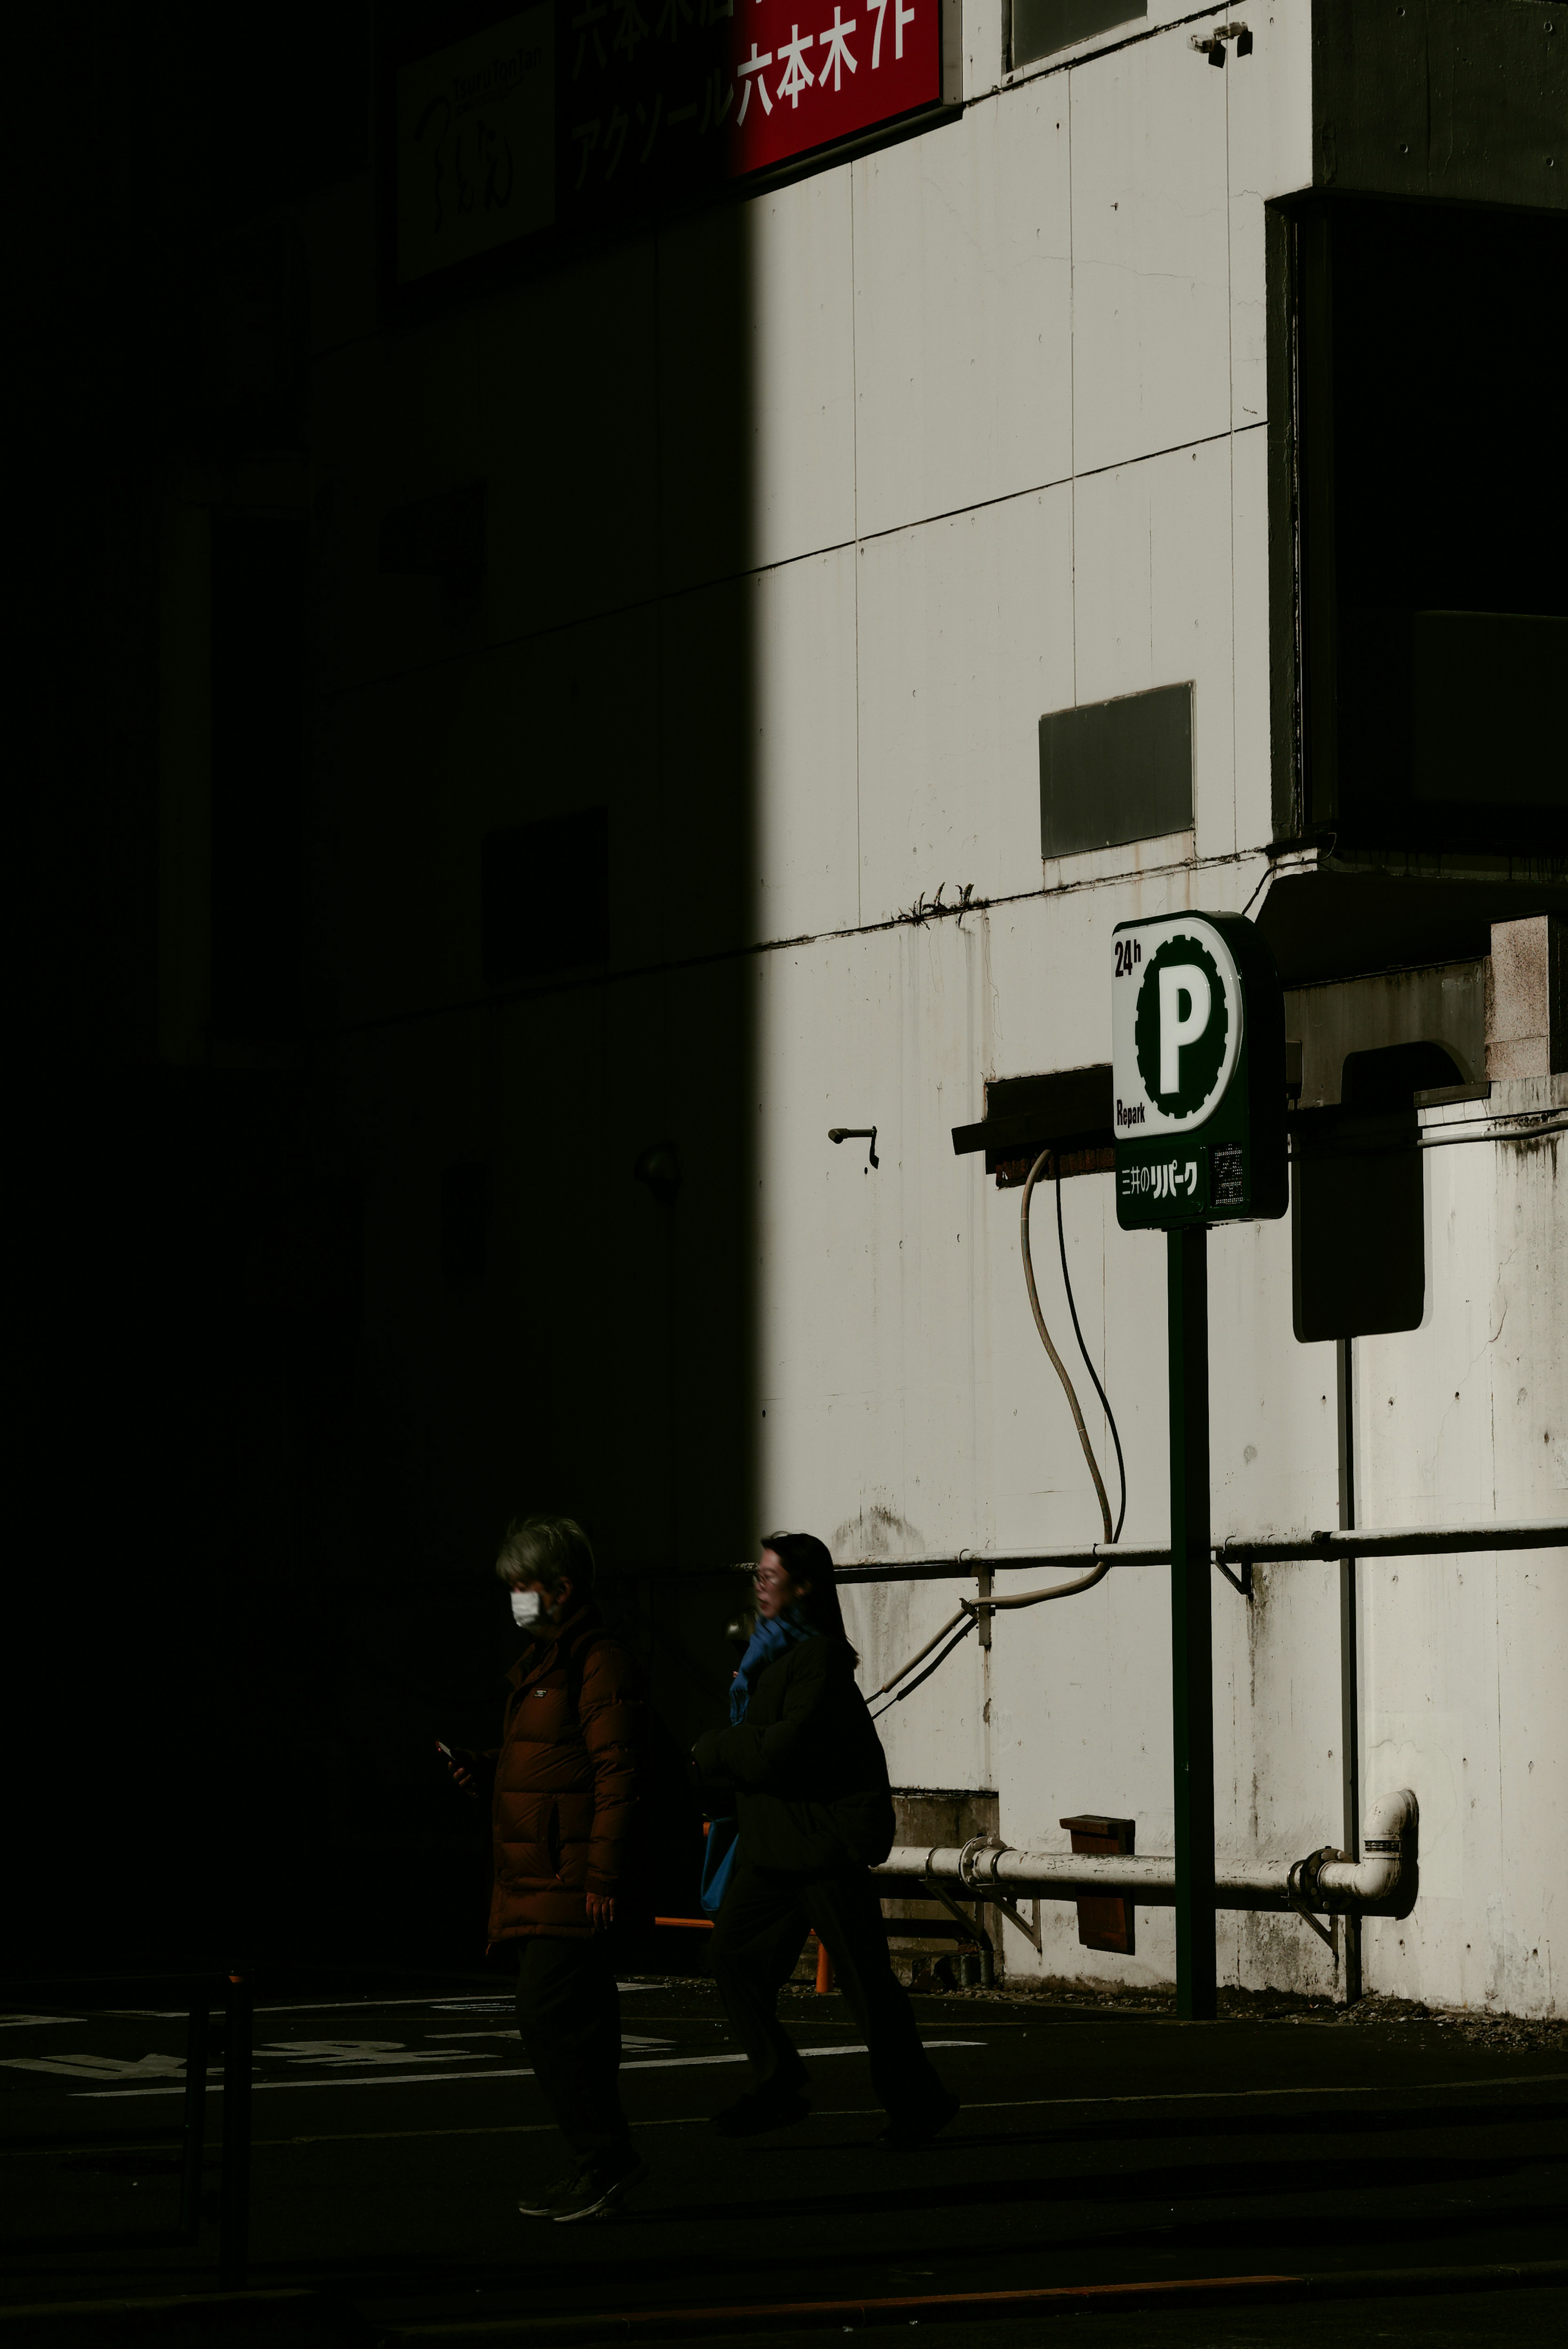
<path fill-rule="evenodd" d="M 581 1607 L 508 1672 L 491 1802 L 491 1940 L 585 1940 L 585 1893 L 625 1893 L 646 1788 L 642 1675 Z"/>

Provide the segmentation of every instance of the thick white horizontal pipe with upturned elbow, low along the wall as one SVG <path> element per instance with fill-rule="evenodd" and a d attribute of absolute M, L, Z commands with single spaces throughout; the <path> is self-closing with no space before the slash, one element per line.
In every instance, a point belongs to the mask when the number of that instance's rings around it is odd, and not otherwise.
<path fill-rule="evenodd" d="M 1408 1917 L 1418 1889 L 1418 1804 L 1408 1788 L 1385 1795 L 1366 1813 L 1359 1863 L 1333 1846 L 1288 1865 L 1286 1860 L 1220 1860 L 1215 1907 L 1222 1910 L 1316 1910 L 1333 1914 Z M 877 1877 L 933 1877 L 1004 1898 L 1030 1900 L 1135 1900 L 1138 1907 L 1175 1907 L 1175 1860 L 1159 1856 L 1098 1858 L 1065 1851 L 1013 1851 L 1011 1844 L 961 1846 L 896 1844 L 872 1870 Z"/>

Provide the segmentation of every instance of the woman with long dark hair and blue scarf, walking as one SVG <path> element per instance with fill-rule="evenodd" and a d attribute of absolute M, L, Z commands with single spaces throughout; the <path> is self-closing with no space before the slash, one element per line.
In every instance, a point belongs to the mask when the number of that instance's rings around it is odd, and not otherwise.
<path fill-rule="evenodd" d="M 731 1797 L 741 1820 L 712 1971 L 750 2058 L 750 2086 L 717 2114 L 724 2138 L 785 2128 L 811 2112 L 806 2067 L 778 2022 L 778 1992 L 809 1931 L 825 1945 L 870 2048 L 872 2086 L 889 2112 L 877 2142 L 926 2145 L 959 2109 L 889 1964 L 870 1867 L 893 1846 L 893 1797 L 856 1663 L 827 1546 L 816 1534 L 769 1534 L 729 1729 L 710 1729 L 693 1748 L 703 1790 Z"/>

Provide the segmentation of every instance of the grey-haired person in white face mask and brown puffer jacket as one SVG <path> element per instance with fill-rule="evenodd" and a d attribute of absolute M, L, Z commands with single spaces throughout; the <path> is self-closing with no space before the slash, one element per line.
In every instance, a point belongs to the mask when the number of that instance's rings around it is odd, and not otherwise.
<path fill-rule="evenodd" d="M 635 1900 L 646 1799 L 642 1675 L 592 1602 L 595 1560 L 571 1517 L 517 1517 L 496 1574 L 529 1642 L 508 1672 L 501 1745 L 451 1752 L 468 1795 L 491 1792 L 489 1938 L 517 1943 L 517 2030 L 567 2140 L 567 2175 L 524 2217 L 595 2217 L 646 2178 L 621 2109 L 611 1929 Z"/>

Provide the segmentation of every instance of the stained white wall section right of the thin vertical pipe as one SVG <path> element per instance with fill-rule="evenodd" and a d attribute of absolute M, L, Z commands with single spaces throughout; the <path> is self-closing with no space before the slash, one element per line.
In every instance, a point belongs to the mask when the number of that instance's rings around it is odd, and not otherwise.
<path fill-rule="evenodd" d="M 1434 1149 L 1425 1177 L 1427 1318 L 1356 1348 L 1363 1517 L 1561 1517 L 1561 1142 Z M 1566 1567 L 1559 1550 L 1361 1569 L 1366 1783 L 1422 1802 L 1418 1910 L 1368 1929 L 1380 1987 L 1563 2008 Z"/>

